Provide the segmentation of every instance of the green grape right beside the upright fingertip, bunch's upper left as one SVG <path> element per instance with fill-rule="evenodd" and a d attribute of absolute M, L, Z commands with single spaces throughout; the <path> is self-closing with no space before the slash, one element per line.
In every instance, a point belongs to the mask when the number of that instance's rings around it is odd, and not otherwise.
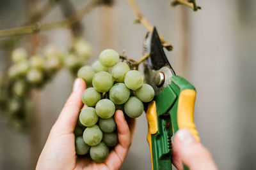
<path fill-rule="evenodd" d="M 93 71 L 92 67 L 90 66 L 83 66 L 79 69 L 77 76 L 82 78 L 86 85 L 92 85 L 92 80 L 95 72 Z"/>

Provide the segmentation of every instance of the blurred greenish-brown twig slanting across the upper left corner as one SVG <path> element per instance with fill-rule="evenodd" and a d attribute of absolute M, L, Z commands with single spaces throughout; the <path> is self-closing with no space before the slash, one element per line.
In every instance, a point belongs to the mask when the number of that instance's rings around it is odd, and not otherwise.
<path fill-rule="evenodd" d="M 59 22 L 51 22 L 46 24 L 41 24 L 40 22 L 38 22 L 24 27 L 0 30 L 0 37 L 17 36 L 21 34 L 31 34 L 39 31 L 49 31 L 56 28 L 70 27 L 78 20 L 81 20 L 81 18 L 83 18 L 86 13 L 89 13 L 95 6 L 98 6 L 100 4 L 102 4 L 101 0 L 91 0 L 90 3 L 86 4 L 81 10 L 77 11 L 65 20 Z"/>

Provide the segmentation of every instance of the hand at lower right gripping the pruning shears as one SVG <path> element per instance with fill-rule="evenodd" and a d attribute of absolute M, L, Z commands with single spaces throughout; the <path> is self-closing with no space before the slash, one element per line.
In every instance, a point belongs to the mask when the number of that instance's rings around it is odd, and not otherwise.
<path fill-rule="evenodd" d="M 182 162 L 190 170 L 217 169 L 209 151 L 187 129 L 180 129 L 174 136 L 172 160 L 177 169 L 183 169 Z"/>

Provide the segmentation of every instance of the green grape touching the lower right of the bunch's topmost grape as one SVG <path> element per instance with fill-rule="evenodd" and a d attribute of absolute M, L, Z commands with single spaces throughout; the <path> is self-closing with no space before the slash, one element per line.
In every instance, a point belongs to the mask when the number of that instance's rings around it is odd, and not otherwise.
<path fill-rule="evenodd" d="M 130 67 L 125 62 L 119 62 L 112 69 L 112 76 L 117 82 L 124 82 L 125 74 L 130 71 Z"/>

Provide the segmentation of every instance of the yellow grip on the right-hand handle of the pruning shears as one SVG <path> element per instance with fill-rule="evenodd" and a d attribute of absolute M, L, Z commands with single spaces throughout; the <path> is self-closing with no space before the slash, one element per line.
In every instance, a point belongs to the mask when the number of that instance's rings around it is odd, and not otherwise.
<path fill-rule="evenodd" d="M 196 125 L 194 123 L 194 107 L 195 107 L 196 91 L 192 89 L 185 89 L 180 92 L 177 120 L 179 129 L 186 128 L 200 141 Z"/>

